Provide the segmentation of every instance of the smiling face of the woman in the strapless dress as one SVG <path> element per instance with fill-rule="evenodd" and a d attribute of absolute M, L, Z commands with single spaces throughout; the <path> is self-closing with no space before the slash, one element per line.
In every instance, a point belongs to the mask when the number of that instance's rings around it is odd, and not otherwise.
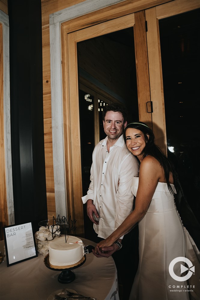
<path fill-rule="evenodd" d="M 133 155 L 142 161 L 141 153 L 146 146 L 144 133 L 139 129 L 128 128 L 126 130 L 126 146 Z"/>

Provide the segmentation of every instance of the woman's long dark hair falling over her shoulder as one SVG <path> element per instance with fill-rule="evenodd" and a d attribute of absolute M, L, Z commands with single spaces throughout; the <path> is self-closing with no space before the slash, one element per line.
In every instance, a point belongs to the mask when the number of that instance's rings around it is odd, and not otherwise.
<path fill-rule="evenodd" d="M 176 172 L 174 170 L 174 166 L 169 163 L 167 157 L 162 153 L 162 151 L 159 149 L 158 146 L 155 145 L 155 136 L 153 134 L 153 131 L 143 122 L 131 122 L 129 123 L 126 128 L 124 129 L 124 141 L 126 143 L 126 130 L 128 128 L 135 128 L 138 129 L 140 131 L 143 132 L 144 134 L 144 138 L 146 140 L 146 146 L 144 147 L 143 151 L 142 151 L 142 155 L 143 157 L 145 157 L 146 155 L 151 155 L 153 157 L 155 157 L 160 165 L 163 167 L 164 173 L 165 173 L 165 179 L 167 182 L 167 186 L 169 191 L 174 195 L 174 192 L 171 188 L 171 185 L 169 183 L 169 175 L 170 173 L 172 173 L 173 179 L 174 179 L 174 186 L 175 188 L 178 187 L 177 185 L 177 176 L 176 176 Z M 147 136 L 147 134 L 149 135 L 149 137 Z"/>

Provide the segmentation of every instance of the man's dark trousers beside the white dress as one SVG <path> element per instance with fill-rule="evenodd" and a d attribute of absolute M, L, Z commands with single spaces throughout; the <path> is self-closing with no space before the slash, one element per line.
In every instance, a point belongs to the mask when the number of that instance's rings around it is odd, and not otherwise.
<path fill-rule="evenodd" d="M 96 242 L 102 240 L 103 238 L 97 237 Z M 123 300 L 128 300 L 139 262 L 138 225 L 124 235 L 122 245 L 122 248 L 113 253 L 112 257 L 117 268 L 118 283 L 123 286 Z"/>

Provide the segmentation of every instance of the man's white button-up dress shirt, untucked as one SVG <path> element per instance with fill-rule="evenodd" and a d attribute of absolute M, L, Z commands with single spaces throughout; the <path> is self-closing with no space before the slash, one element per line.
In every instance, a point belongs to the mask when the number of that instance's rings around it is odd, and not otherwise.
<path fill-rule="evenodd" d="M 134 199 L 131 182 L 139 170 L 139 163 L 126 148 L 123 135 L 109 152 L 107 140 L 108 137 L 95 146 L 91 183 L 87 195 L 82 197 L 83 203 L 93 200 L 99 214 L 99 218 L 94 216 L 99 221 L 99 225 L 94 224 L 94 230 L 101 238 L 107 238 L 131 213 Z"/>

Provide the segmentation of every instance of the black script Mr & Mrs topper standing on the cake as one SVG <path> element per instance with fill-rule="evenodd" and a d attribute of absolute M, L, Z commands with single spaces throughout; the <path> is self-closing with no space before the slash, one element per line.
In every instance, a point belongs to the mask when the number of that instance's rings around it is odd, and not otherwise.
<path fill-rule="evenodd" d="M 68 220 L 65 216 L 62 216 L 62 218 L 60 218 L 60 215 L 58 215 L 57 219 L 55 219 L 55 217 L 53 216 L 53 225 L 49 225 L 49 227 L 51 227 L 50 232 L 52 234 L 52 237 L 53 237 L 53 235 L 59 235 L 60 236 L 60 235 L 64 234 L 65 235 L 65 241 L 66 241 L 66 235 L 69 235 L 70 232 L 75 231 L 76 221 L 77 220 L 72 220 L 71 219 L 71 215 L 70 215 Z M 55 222 L 55 224 L 54 224 L 54 222 Z M 58 227 L 58 223 L 60 224 L 59 227 Z"/>

